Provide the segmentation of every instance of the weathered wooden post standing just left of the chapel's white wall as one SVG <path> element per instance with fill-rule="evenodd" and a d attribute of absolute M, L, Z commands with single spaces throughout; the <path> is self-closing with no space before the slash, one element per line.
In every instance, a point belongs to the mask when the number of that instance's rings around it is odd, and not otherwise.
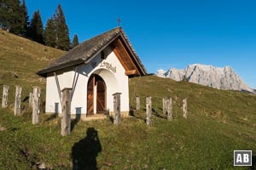
<path fill-rule="evenodd" d="M 32 124 L 38 124 L 40 122 L 40 98 L 41 88 L 33 87 L 32 94 Z"/>

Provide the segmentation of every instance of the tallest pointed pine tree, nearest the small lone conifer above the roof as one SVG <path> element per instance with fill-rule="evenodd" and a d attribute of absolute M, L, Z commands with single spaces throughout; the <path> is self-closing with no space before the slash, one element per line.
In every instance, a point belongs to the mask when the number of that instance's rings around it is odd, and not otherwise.
<path fill-rule="evenodd" d="M 54 20 L 56 29 L 56 48 L 68 50 L 70 46 L 69 31 L 61 4 L 59 4 L 55 10 Z"/>

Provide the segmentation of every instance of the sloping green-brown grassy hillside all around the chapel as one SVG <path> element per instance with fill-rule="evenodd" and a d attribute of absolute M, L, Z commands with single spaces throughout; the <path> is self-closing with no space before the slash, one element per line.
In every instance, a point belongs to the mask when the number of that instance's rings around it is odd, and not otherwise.
<path fill-rule="evenodd" d="M 22 51 L 21 44 L 26 44 Z M 45 82 L 38 82 L 34 72 L 63 54 L 44 49 L 2 31 L 1 83 L 44 87 Z M 19 77 L 12 77 L 11 71 Z M 154 76 L 130 79 L 131 107 L 136 105 L 136 95 L 141 97 L 142 109 L 122 119 L 119 127 L 109 120 L 73 121 L 67 137 L 60 135 L 60 118 L 42 115 L 41 123 L 32 126 L 31 111 L 17 117 L 10 108 L 0 109 L 0 169 L 36 169 L 43 162 L 48 169 L 72 169 L 73 162 L 81 162 L 81 169 L 103 170 L 256 168 L 256 96 Z M 153 100 L 152 127 L 145 123 L 148 95 Z M 172 122 L 161 113 L 162 98 L 167 96 L 175 101 Z M 187 120 L 180 108 L 184 98 L 188 98 Z M 26 102 L 23 105 L 27 107 Z M 97 142 L 90 139 L 96 137 Z M 233 167 L 233 150 L 253 150 L 253 167 Z"/>

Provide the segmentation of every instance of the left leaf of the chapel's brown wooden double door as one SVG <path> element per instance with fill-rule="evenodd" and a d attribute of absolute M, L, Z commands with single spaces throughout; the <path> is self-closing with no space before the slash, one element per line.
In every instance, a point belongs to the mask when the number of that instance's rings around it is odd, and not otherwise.
<path fill-rule="evenodd" d="M 94 86 L 95 86 L 95 77 L 91 76 L 89 78 L 89 82 L 88 82 L 88 85 L 87 85 L 87 114 L 89 114 L 89 115 L 93 114 Z"/>

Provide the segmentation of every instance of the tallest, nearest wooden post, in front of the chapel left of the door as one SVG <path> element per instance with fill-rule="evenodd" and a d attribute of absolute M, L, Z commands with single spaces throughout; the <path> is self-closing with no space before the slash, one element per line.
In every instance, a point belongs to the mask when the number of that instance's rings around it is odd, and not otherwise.
<path fill-rule="evenodd" d="M 67 136 L 71 130 L 71 95 L 72 88 L 63 88 L 62 92 L 62 117 L 61 135 Z"/>

